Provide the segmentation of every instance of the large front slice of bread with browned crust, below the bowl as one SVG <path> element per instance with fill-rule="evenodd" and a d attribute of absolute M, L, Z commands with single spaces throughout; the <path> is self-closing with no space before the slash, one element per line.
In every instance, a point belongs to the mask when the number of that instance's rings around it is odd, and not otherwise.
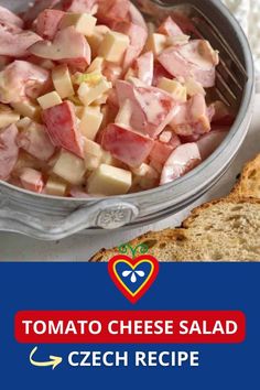
<path fill-rule="evenodd" d="M 130 242 L 160 261 L 260 261 L 260 199 L 224 198 L 196 208 L 183 228 L 150 232 Z M 117 248 L 91 261 L 108 261 Z M 129 253 L 130 254 L 130 253 Z"/>

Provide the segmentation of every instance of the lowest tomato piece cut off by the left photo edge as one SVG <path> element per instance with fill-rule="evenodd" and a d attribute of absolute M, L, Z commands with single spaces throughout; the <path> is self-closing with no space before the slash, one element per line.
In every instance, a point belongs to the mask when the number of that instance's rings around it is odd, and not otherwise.
<path fill-rule="evenodd" d="M 17 164 L 19 154 L 17 137 L 15 124 L 0 130 L 0 180 L 8 180 Z"/>

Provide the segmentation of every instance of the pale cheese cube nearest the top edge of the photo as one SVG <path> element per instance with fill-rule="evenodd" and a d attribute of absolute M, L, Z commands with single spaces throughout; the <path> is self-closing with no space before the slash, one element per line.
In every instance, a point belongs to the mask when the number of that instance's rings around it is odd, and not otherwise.
<path fill-rule="evenodd" d="M 59 29 L 73 25 L 77 32 L 86 36 L 93 35 L 97 19 L 89 13 L 66 13 L 59 24 Z"/>

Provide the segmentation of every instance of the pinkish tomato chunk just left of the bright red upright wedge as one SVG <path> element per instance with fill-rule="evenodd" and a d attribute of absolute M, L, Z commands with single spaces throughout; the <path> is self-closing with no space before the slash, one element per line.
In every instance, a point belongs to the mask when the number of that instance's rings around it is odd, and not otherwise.
<path fill-rule="evenodd" d="M 35 122 L 20 132 L 18 145 L 40 161 L 48 161 L 55 152 L 46 127 Z"/>

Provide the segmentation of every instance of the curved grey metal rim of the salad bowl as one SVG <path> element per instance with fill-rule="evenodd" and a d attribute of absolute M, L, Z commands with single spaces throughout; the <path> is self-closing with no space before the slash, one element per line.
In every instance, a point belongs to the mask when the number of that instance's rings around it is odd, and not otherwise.
<path fill-rule="evenodd" d="M 228 147 L 229 142 L 235 138 L 238 129 L 242 124 L 245 120 L 246 112 L 248 112 L 248 109 L 250 107 L 250 104 L 253 99 L 253 91 L 254 91 L 254 66 L 253 66 L 253 58 L 252 58 L 252 53 L 249 46 L 248 39 L 240 26 L 239 22 L 236 20 L 236 18 L 231 14 L 231 12 L 225 7 L 221 1 L 219 0 L 210 0 L 212 3 L 214 3 L 215 8 L 218 9 L 221 14 L 228 20 L 229 24 L 231 24 L 232 29 L 237 32 L 237 37 L 241 43 L 241 50 L 243 52 L 243 57 L 245 57 L 245 68 L 247 72 L 248 80 L 246 83 L 245 89 L 243 89 L 243 95 L 240 104 L 240 108 L 238 111 L 238 115 L 236 117 L 236 120 L 230 128 L 228 134 L 221 142 L 221 144 L 215 150 L 214 153 L 210 154 L 205 161 L 203 161 L 198 166 L 193 169 L 191 172 L 186 173 L 184 176 L 178 177 L 172 183 L 164 184 L 161 186 L 158 186 L 155 188 L 147 189 L 147 191 L 141 191 L 137 193 L 131 193 L 131 194 L 126 194 L 126 195 L 117 195 L 117 196 L 89 196 L 89 198 L 86 197 L 62 197 L 62 196 L 54 196 L 54 195 L 46 195 L 46 194 L 36 194 L 33 192 L 30 192 L 24 188 L 20 188 L 13 184 L 7 183 L 4 181 L 0 181 L 0 185 L 3 187 L 7 187 L 11 189 L 12 192 L 17 192 L 19 194 L 23 194 L 30 197 L 33 197 L 34 199 L 42 199 L 42 201 L 63 201 L 65 203 L 74 203 L 75 205 L 77 204 L 83 204 L 83 203 L 90 203 L 90 202 L 99 202 L 104 199 L 118 199 L 118 201 L 130 201 L 133 199 L 138 202 L 139 199 L 142 199 L 143 197 L 149 197 L 151 195 L 156 195 L 160 194 L 162 191 L 166 192 L 172 189 L 173 187 L 182 184 L 186 184 L 187 182 L 191 182 L 192 178 L 195 176 L 198 176 L 202 174 L 203 171 L 205 171 L 206 167 L 209 167 L 209 165 L 214 166 L 214 161 L 216 161 L 220 155 L 225 153 L 225 149 Z M 188 2 L 188 1 L 187 1 Z M 162 3 L 161 3 L 162 4 Z M 1 191 L 0 191 L 1 192 Z M 87 194 L 86 194 L 87 195 Z"/>

